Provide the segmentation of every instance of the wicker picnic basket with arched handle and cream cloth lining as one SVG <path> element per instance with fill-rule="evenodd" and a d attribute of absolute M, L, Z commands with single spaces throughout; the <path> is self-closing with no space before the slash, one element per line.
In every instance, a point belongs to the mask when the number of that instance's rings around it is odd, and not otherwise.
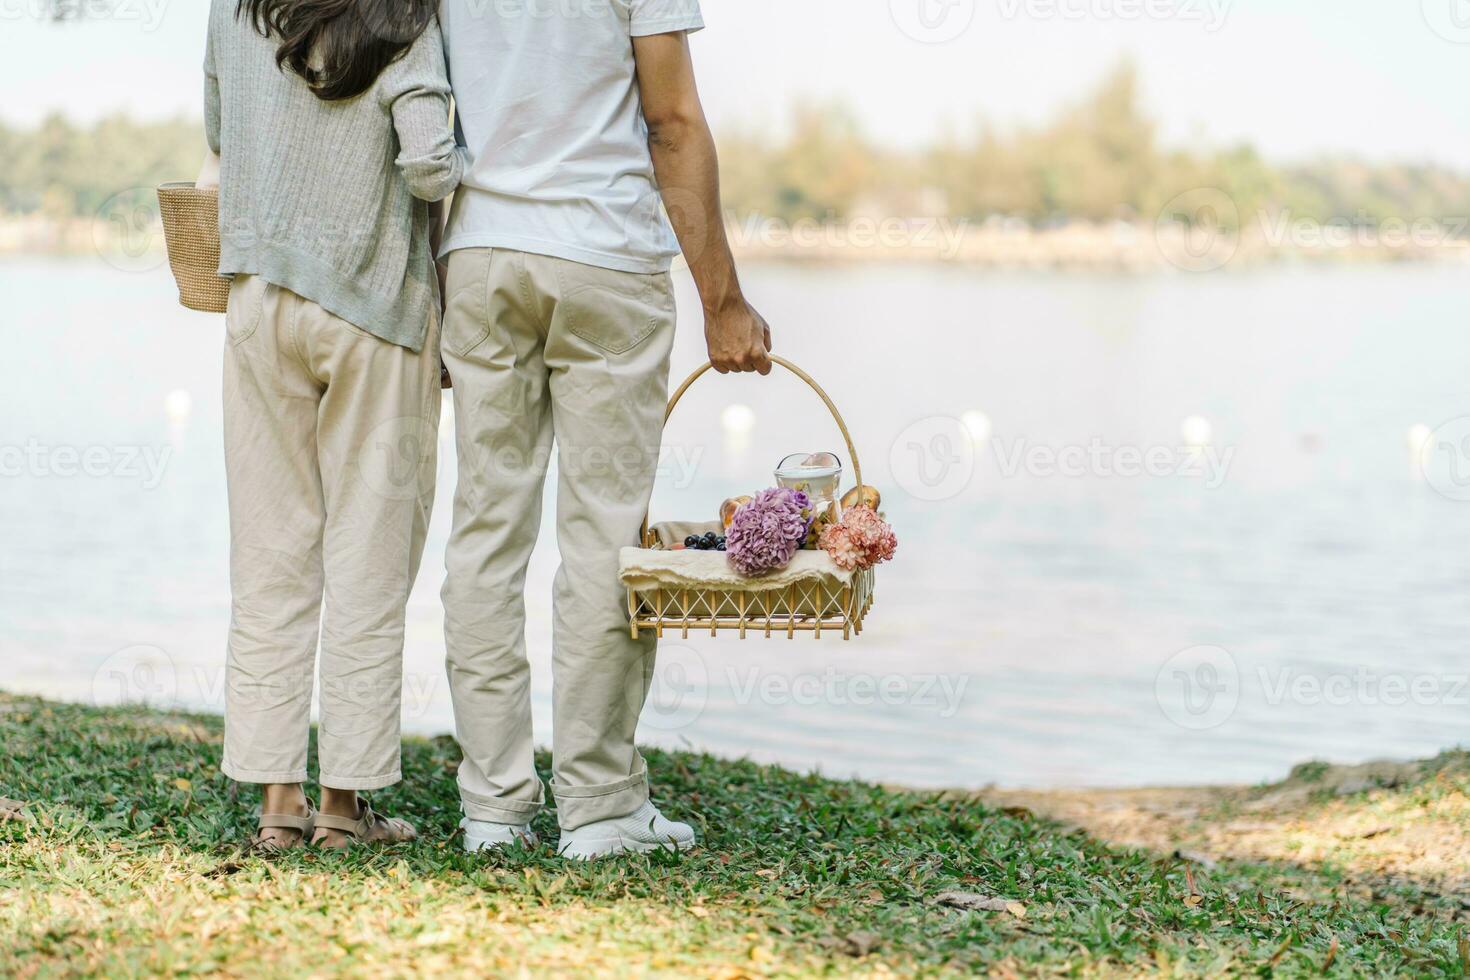
<path fill-rule="evenodd" d="M 863 486 L 863 466 L 857 458 L 857 447 L 832 398 L 811 375 L 789 360 L 775 354 L 770 360 L 806 382 L 832 413 L 853 461 L 853 478 L 857 486 Z M 711 364 L 706 363 L 679 385 L 664 411 L 666 423 L 685 392 L 710 369 Z M 659 529 L 650 527 L 647 516 L 639 539 L 645 554 L 662 551 L 667 545 L 660 538 Z M 722 566 L 725 563 L 722 552 L 695 552 L 695 555 L 691 561 L 711 563 L 710 567 L 713 563 Z M 691 632 L 709 630 L 710 636 L 734 632 L 741 639 L 753 635 L 794 638 L 797 633 L 811 633 L 819 639 L 823 633 L 851 639 L 861 633 L 863 620 L 873 607 L 873 569 L 841 572 L 822 551 L 801 551 L 797 557 L 801 561 L 794 566 L 800 564 L 801 569 L 781 576 L 779 583 L 766 583 L 761 579 L 747 579 L 731 586 L 678 582 L 628 583 L 628 617 L 632 635 L 638 638 L 642 630 L 651 630 L 662 638 L 666 630 L 678 630 L 686 638 Z"/>

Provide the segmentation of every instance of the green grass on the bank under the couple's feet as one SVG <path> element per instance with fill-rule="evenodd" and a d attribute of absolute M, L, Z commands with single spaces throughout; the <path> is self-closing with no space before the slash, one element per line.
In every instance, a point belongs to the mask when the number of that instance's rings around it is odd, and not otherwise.
<path fill-rule="evenodd" d="M 1466 976 L 1449 899 L 1330 871 L 1188 868 L 1026 813 L 650 752 L 706 846 L 469 857 L 450 739 L 373 796 L 412 845 L 244 857 L 219 720 L 0 695 L 0 976 Z M 545 760 L 542 760 L 544 764 Z M 542 836 L 554 839 L 544 817 Z M 1192 884 L 1191 884 L 1192 879 Z M 1025 915 L 935 902 L 1014 899 Z"/>

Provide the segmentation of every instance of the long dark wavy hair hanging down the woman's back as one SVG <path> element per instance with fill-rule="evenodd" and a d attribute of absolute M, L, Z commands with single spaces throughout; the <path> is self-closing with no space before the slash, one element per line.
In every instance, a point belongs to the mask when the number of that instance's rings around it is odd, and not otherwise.
<path fill-rule="evenodd" d="M 276 65 L 326 101 L 372 88 L 437 13 L 438 0 L 240 0 L 235 7 L 262 37 L 281 40 Z"/>

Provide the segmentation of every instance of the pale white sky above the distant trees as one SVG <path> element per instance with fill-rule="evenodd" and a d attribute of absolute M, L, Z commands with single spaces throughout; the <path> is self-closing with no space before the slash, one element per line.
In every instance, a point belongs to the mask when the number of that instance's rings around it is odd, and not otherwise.
<path fill-rule="evenodd" d="M 0 119 L 198 115 L 207 3 L 110 1 L 100 21 L 54 25 L 41 0 L 0 0 Z M 1470 0 L 704 0 L 704 12 L 694 47 L 716 131 L 779 129 L 795 101 L 842 100 L 873 138 L 919 145 L 979 119 L 1044 122 L 1130 57 L 1172 144 L 1470 170 Z"/>

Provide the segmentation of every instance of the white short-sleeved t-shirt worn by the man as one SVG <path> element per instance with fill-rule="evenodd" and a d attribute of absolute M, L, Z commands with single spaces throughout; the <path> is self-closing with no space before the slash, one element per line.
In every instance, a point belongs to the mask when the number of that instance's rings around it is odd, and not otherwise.
<path fill-rule="evenodd" d="M 442 254 L 514 248 L 666 272 L 632 38 L 698 31 L 698 0 L 444 0 L 460 143 L 470 153 Z"/>

